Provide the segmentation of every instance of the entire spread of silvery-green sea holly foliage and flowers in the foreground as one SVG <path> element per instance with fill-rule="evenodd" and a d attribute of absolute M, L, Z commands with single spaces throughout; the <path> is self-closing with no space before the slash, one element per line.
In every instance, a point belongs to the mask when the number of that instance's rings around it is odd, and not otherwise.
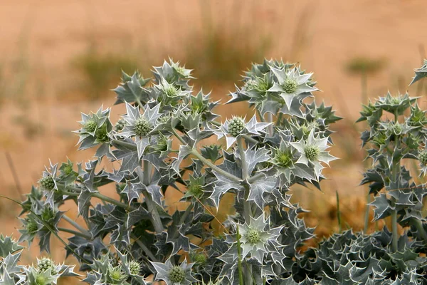
<path fill-rule="evenodd" d="M 409 95 L 369 103 L 360 119 L 369 122 L 362 140 L 373 163 L 362 183 L 376 195 L 375 218 L 393 218 L 391 231 L 349 230 L 302 251 L 314 229 L 290 189 L 320 189 L 340 120 L 313 100 L 313 78 L 293 63 L 253 64 L 226 103 L 247 101 L 250 113 L 221 118 L 221 104 L 194 92 L 179 63 L 154 67 L 152 79 L 123 73 L 117 106 L 85 110 L 75 131 L 95 158 L 51 162 L 20 203 L 21 241 L 49 253 L 51 237 L 69 234 L 60 239 L 67 255 L 93 285 L 427 284 L 425 187 L 405 166 L 418 160 L 420 174 L 427 170 L 426 116 Z M 233 209 L 223 209 L 224 195 Z M 17 266 L 21 247 L 4 241 L 0 284 L 55 284 L 65 271 L 50 259 Z"/>

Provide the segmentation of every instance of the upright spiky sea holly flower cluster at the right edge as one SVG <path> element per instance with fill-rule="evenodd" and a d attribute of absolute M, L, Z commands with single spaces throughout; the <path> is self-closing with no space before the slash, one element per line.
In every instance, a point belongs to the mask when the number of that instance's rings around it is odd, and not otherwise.
<path fill-rule="evenodd" d="M 426 238 L 420 221 L 427 193 L 423 185 L 413 182 L 407 166 L 401 163 L 404 159 L 416 160 L 420 175 L 427 171 L 426 111 L 419 108 L 416 99 L 407 93 L 388 93 L 364 106 L 359 121 L 367 120 L 369 125 L 369 130 L 362 133 L 362 143 L 369 145 L 372 167 L 362 184 L 369 183 L 370 193 L 376 196 L 372 202 L 375 219 L 396 214 L 402 227 L 412 225 L 418 229 L 418 237 Z M 383 189 L 386 192 L 381 192 Z"/>

